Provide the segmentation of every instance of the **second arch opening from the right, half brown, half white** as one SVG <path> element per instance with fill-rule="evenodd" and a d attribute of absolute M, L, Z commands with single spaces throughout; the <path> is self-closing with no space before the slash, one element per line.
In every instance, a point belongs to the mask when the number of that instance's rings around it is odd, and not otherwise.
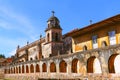
<path fill-rule="evenodd" d="M 100 61 L 95 56 L 92 56 L 87 60 L 87 72 L 102 73 Z"/>

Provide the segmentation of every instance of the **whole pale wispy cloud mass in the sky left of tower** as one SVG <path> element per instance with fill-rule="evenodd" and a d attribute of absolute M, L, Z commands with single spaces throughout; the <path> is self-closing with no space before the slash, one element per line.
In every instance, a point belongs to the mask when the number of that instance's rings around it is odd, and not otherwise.
<path fill-rule="evenodd" d="M 35 29 L 35 26 L 32 24 L 26 15 L 22 13 L 17 13 L 13 8 L 0 5 L 0 29 L 6 31 L 15 31 L 18 33 L 14 34 L 17 37 L 11 37 L 8 34 L 7 36 L 0 36 L 0 52 L 4 53 L 6 56 L 14 55 L 17 45 L 24 46 L 28 40 L 36 40 L 39 36 L 38 29 Z M 0 32 L 1 33 L 1 32 Z"/>

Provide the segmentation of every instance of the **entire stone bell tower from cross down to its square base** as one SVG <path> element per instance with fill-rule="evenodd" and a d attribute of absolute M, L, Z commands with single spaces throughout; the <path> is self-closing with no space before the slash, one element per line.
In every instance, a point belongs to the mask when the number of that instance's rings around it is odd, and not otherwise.
<path fill-rule="evenodd" d="M 52 11 L 52 16 L 47 21 L 47 28 L 45 30 L 45 44 L 44 48 L 47 48 L 43 51 L 44 57 L 56 56 L 58 53 L 61 53 L 63 42 L 62 42 L 62 28 L 60 27 L 60 21 L 54 15 Z"/>

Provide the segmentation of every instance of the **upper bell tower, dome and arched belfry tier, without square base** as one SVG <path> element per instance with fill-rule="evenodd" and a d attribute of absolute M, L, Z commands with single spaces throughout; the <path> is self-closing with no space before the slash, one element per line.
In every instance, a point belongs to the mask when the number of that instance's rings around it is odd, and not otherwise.
<path fill-rule="evenodd" d="M 47 21 L 46 32 L 46 42 L 59 42 L 62 41 L 62 28 L 60 27 L 60 21 L 54 16 L 54 11 L 52 11 L 52 16 Z"/>

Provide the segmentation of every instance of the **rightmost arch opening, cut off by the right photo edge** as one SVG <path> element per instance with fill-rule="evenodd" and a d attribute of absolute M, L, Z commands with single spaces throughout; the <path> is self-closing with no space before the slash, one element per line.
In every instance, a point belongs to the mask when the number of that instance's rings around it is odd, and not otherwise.
<path fill-rule="evenodd" d="M 119 65 L 118 65 L 118 63 L 116 64 L 116 62 L 120 61 L 119 56 L 120 55 L 118 55 L 118 54 L 113 54 L 110 56 L 110 58 L 108 60 L 108 68 L 109 68 L 110 73 L 115 73 L 115 72 L 120 73 L 120 70 L 118 69 Z M 118 71 L 116 71 L 115 69 Z"/>

